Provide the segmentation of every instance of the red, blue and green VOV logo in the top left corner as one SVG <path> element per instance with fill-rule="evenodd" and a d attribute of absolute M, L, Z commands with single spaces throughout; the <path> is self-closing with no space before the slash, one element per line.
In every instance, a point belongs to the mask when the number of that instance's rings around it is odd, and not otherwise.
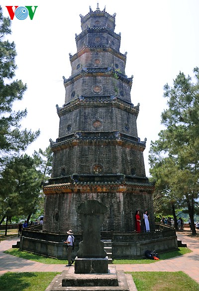
<path fill-rule="evenodd" d="M 5 6 L 5 7 L 7 8 L 7 11 L 9 13 L 11 20 L 13 20 L 14 15 L 19 20 L 24 20 L 29 15 L 30 19 L 32 20 L 34 17 L 34 13 L 36 11 L 36 8 L 38 6 L 34 6 L 34 11 L 32 10 L 33 6 Z M 15 7 L 14 11 L 13 11 L 12 7 Z"/>

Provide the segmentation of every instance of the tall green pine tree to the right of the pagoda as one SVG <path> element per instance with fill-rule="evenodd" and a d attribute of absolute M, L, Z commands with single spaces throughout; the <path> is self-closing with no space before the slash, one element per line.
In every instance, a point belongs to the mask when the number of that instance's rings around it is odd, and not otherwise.
<path fill-rule="evenodd" d="M 199 68 L 194 69 L 196 82 L 179 73 L 173 87 L 164 87 L 168 108 L 162 113 L 159 139 L 150 149 L 151 173 L 159 184 L 166 185 L 172 196 L 185 201 L 196 234 L 194 209 L 199 196 Z M 159 174 L 158 174 L 159 173 Z M 161 173 L 161 175 L 160 175 Z"/>

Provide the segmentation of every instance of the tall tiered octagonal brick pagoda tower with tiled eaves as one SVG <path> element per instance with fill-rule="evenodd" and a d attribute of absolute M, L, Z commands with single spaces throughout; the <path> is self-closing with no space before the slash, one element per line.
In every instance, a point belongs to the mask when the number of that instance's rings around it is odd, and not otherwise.
<path fill-rule="evenodd" d="M 126 53 L 119 52 L 115 13 L 99 5 L 81 17 L 71 76 L 64 79 L 65 103 L 57 105 L 59 137 L 51 140 L 52 177 L 44 186 L 45 231 L 81 231 L 77 207 L 87 199 L 105 204 L 101 231 L 133 232 L 135 211 L 148 210 L 155 228 L 152 193 L 145 174 L 146 138 L 137 134 L 139 104 L 131 103 Z M 143 223 L 143 222 L 142 222 Z M 141 225 L 143 230 L 143 225 Z"/>

